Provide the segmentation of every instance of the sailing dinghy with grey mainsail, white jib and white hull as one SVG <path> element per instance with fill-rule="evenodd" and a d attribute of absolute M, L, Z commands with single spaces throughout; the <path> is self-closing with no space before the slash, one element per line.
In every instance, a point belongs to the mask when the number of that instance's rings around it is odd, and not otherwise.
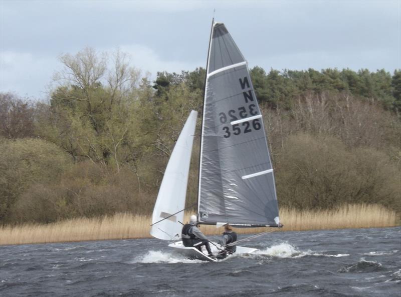
<path fill-rule="evenodd" d="M 281 227 L 273 166 L 248 64 L 223 23 L 212 24 L 206 76 L 198 222 L 217 227 L 228 223 Z M 160 185 L 150 230 L 159 239 L 181 236 L 196 116 L 191 111 Z M 194 247 L 183 246 L 182 241 L 169 246 L 191 258 L 215 261 Z M 237 246 L 236 253 L 255 250 Z"/>

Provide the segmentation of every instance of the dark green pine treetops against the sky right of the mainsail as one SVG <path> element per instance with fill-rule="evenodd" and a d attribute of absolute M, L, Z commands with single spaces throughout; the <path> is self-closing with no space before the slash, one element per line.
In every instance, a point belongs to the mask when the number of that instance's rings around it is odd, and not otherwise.
<path fill-rule="evenodd" d="M 395 70 L 391 76 L 384 69 L 369 72 L 361 69 L 314 69 L 307 71 L 265 70 L 255 67 L 251 70 L 258 100 L 266 102 L 271 108 L 291 109 L 294 98 L 306 92 L 346 93 L 358 99 L 378 102 L 395 113 L 401 111 L 401 70 Z"/>

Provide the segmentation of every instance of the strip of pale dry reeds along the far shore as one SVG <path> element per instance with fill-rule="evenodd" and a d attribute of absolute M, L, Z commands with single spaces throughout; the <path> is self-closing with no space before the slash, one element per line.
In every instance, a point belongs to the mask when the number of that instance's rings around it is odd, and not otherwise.
<path fill-rule="evenodd" d="M 190 213 L 185 214 L 188 220 Z M 347 205 L 336 211 L 298 211 L 281 209 L 284 228 L 280 231 L 341 228 L 391 227 L 396 214 L 379 205 Z M 26 244 L 81 240 L 127 239 L 149 237 L 150 216 L 119 213 L 102 218 L 78 218 L 40 225 L 25 224 L 0 227 L 0 244 Z M 222 228 L 201 226 L 205 234 L 220 234 Z M 266 228 L 239 228 L 238 233 L 263 232 Z"/>

